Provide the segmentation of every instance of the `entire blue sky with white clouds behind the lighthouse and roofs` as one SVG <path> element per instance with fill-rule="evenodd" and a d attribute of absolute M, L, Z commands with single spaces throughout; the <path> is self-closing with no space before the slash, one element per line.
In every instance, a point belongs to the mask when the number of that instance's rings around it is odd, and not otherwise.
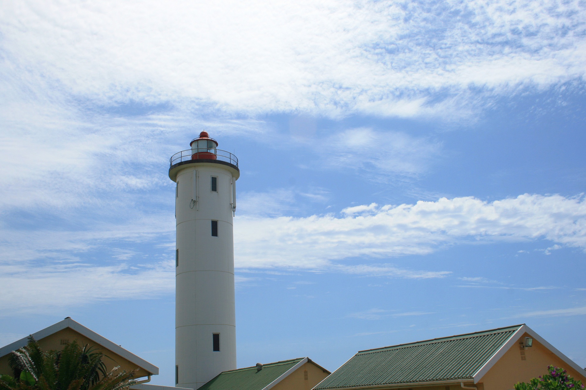
<path fill-rule="evenodd" d="M 237 365 L 526 323 L 586 367 L 583 1 L 9 1 L 0 344 L 173 385 L 169 158 L 239 158 Z"/>

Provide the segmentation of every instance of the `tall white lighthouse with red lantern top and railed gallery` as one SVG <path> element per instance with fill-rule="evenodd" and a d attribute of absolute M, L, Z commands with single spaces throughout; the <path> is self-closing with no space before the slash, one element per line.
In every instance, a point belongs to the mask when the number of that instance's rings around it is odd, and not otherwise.
<path fill-rule="evenodd" d="M 171 158 L 176 182 L 175 385 L 236 369 L 233 213 L 238 159 L 202 131 Z"/>

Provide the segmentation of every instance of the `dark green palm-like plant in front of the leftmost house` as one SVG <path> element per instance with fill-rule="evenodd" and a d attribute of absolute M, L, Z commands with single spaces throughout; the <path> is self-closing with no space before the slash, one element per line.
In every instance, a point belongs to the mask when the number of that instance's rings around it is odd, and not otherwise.
<path fill-rule="evenodd" d="M 9 365 L 14 377 L 0 376 L 0 390 L 121 390 L 136 383 L 135 371 L 106 372 L 96 348 L 83 347 L 73 341 L 61 351 L 43 352 L 39 343 L 29 336 L 25 347 L 13 351 Z"/>

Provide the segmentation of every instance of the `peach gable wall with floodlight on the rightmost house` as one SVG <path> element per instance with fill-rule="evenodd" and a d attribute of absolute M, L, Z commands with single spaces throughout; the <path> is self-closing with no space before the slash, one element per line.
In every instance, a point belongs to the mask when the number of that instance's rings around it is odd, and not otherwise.
<path fill-rule="evenodd" d="M 524 341 L 529 334 L 523 334 L 519 341 Z M 515 343 L 481 378 L 484 390 L 510 390 L 517 382 L 529 382 L 531 378 L 547 374 L 547 366 L 565 368 L 568 375 L 586 383 L 584 371 L 577 372 L 569 367 L 563 360 L 554 355 L 543 344 L 533 339 L 533 347 L 524 348 L 525 360 L 521 360 L 522 354 L 519 343 Z"/>

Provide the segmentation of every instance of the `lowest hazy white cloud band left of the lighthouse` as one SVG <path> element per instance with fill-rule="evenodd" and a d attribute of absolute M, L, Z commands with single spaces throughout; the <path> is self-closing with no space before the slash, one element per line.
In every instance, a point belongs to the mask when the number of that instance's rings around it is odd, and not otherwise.
<path fill-rule="evenodd" d="M 108 300 L 148 299 L 175 289 L 172 261 L 138 270 L 127 265 L 88 264 L 0 265 L 0 270 L 0 310 L 11 316 L 50 314 L 56 308 Z"/>

